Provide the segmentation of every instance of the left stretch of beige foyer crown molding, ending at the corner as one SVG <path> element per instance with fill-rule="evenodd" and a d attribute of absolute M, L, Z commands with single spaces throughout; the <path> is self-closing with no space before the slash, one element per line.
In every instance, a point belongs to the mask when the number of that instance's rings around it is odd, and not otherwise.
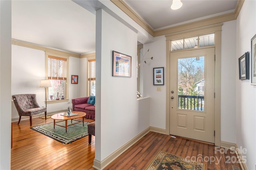
<path fill-rule="evenodd" d="M 138 23 L 143 29 L 145 29 L 150 35 L 154 35 L 154 30 L 144 21 L 132 8 L 130 8 L 123 0 L 110 0 L 120 10 L 127 14 L 132 20 Z"/>

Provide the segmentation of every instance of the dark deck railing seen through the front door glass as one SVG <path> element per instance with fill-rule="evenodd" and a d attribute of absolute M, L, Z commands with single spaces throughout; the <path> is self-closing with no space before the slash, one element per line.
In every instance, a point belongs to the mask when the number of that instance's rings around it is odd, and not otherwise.
<path fill-rule="evenodd" d="M 178 95 L 178 108 L 204 110 L 204 96 Z"/>

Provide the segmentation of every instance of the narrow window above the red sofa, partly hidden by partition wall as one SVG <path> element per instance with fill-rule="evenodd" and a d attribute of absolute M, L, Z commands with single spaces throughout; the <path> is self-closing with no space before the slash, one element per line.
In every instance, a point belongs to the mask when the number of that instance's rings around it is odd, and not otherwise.
<path fill-rule="evenodd" d="M 90 96 L 95 96 L 96 60 L 88 60 L 88 92 Z"/>

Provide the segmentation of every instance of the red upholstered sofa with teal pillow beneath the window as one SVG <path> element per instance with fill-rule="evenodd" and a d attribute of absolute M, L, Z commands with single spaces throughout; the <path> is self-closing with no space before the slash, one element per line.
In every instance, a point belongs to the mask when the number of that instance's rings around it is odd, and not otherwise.
<path fill-rule="evenodd" d="M 86 113 L 84 116 L 88 119 L 95 120 L 95 105 L 88 104 L 89 97 L 74 98 L 72 99 L 73 111 L 83 111 Z"/>

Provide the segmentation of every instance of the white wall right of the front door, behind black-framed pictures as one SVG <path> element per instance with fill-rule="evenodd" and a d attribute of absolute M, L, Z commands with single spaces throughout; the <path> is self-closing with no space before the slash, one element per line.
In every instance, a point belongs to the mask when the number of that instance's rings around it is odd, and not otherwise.
<path fill-rule="evenodd" d="M 250 85 L 251 77 L 239 80 L 238 58 L 247 51 L 251 57 L 250 40 L 256 34 L 255 9 L 255 0 L 245 0 L 236 21 L 236 143 L 247 149 L 242 155 L 246 156 L 249 170 L 254 170 L 256 163 L 256 86 Z"/>

